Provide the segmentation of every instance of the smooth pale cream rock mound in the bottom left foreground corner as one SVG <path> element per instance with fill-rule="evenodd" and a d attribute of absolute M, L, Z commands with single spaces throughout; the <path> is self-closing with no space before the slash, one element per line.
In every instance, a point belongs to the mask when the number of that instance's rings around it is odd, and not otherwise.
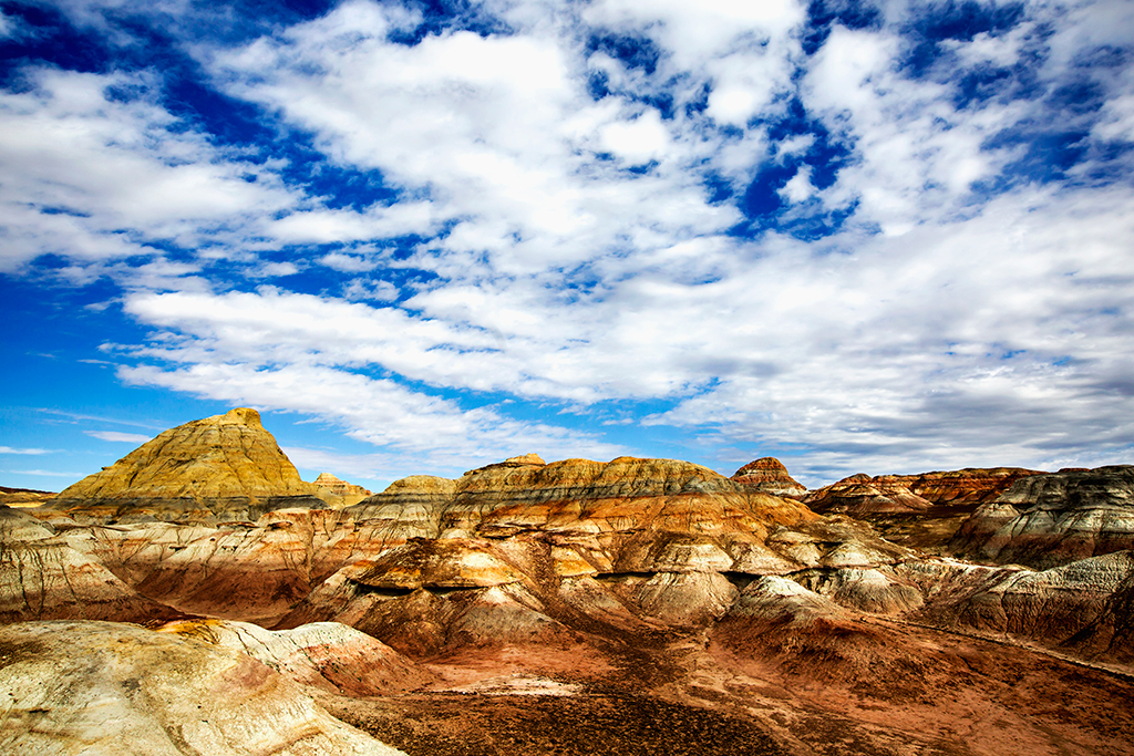
<path fill-rule="evenodd" d="M 139 627 L 0 628 L 0 750 L 396 756 L 248 656 Z"/>

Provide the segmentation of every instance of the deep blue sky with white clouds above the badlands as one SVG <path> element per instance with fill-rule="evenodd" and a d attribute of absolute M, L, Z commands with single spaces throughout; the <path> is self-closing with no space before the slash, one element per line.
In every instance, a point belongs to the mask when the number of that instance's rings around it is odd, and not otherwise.
<path fill-rule="evenodd" d="M 1134 462 L 1128 0 L 0 12 L 0 485 Z"/>

